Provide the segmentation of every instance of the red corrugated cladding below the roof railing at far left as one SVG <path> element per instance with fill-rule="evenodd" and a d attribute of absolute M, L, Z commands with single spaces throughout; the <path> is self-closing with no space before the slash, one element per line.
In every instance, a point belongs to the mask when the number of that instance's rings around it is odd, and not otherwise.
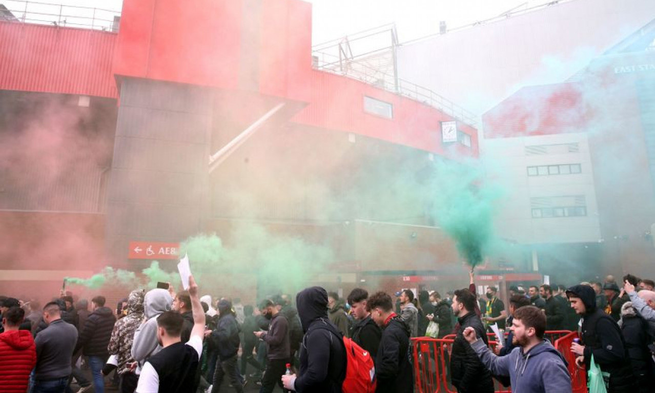
<path fill-rule="evenodd" d="M 116 98 L 116 34 L 0 22 L 0 89 Z"/>

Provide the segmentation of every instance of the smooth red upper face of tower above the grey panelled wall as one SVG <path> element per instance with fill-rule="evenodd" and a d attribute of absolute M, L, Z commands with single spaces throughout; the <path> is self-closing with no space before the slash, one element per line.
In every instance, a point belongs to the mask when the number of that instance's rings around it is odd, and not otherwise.
<path fill-rule="evenodd" d="M 236 88 L 243 1 L 126 0 L 115 73 Z"/>

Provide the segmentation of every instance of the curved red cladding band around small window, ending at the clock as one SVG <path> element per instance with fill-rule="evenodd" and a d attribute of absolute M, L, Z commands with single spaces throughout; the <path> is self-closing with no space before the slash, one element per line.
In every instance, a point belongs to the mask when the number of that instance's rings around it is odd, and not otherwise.
<path fill-rule="evenodd" d="M 445 147 L 441 121 L 453 119 L 428 105 L 322 71 L 313 71 L 310 86 L 310 104 L 291 121 L 362 134 L 446 157 L 478 155 L 477 131 L 462 122 L 458 128 L 472 136 L 472 147 L 458 143 Z M 392 104 L 393 119 L 365 113 L 364 96 Z"/>

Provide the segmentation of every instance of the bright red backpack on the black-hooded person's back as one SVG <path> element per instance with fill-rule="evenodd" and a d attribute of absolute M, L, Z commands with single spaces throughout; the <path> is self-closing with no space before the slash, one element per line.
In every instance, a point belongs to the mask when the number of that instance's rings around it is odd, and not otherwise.
<path fill-rule="evenodd" d="M 341 385 L 343 393 L 375 392 L 377 379 L 371 354 L 348 337 L 343 337 L 343 345 L 346 347 L 346 379 Z"/>

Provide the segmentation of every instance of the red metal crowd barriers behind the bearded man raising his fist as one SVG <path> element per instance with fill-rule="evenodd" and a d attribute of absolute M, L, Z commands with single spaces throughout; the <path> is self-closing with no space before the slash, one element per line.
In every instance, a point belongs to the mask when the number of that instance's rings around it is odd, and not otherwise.
<path fill-rule="evenodd" d="M 489 335 L 489 347 L 493 350 L 496 341 L 493 333 Z M 578 333 L 568 330 L 546 331 L 553 346 L 568 362 L 569 373 L 573 386 L 573 393 L 584 393 L 587 389 L 586 372 L 575 365 L 575 356 L 571 352 L 571 343 L 578 337 Z M 455 335 L 447 335 L 443 339 L 430 337 L 415 337 L 413 343 L 413 367 L 418 393 L 457 393 L 457 389 L 450 383 L 450 355 Z M 502 386 L 494 379 L 496 393 L 510 393 L 510 387 Z"/>

